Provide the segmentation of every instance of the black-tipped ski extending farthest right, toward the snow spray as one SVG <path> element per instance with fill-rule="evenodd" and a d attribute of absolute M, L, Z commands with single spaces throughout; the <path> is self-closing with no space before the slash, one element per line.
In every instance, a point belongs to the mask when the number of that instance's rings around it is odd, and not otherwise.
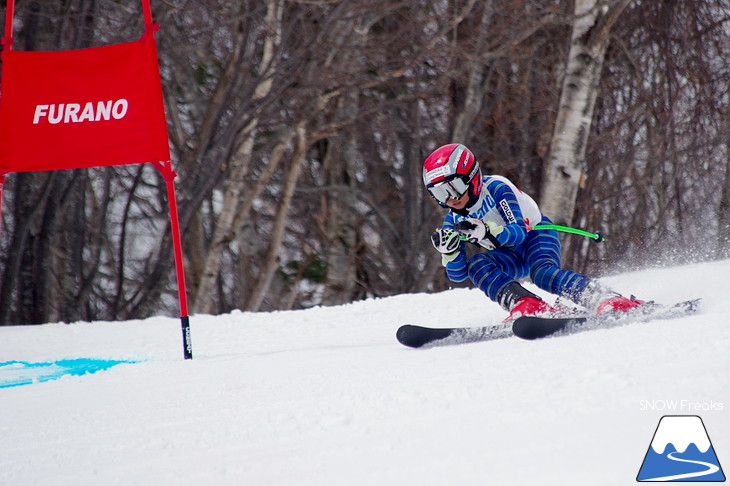
<path fill-rule="evenodd" d="M 699 308 L 700 301 L 701 299 L 687 300 L 669 306 L 647 302 L 629 312 L 597 316 L 518 317 L 512 324 L 512 332 L 519 338 L 533 340 L 591 329 L 606 329 L 632 322 L 673 319 L 696 312 Z"/>

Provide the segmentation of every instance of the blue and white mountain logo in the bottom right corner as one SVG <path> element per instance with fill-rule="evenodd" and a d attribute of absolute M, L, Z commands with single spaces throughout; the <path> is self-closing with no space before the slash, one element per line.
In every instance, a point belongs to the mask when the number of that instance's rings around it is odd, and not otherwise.
<path fill-rule="evenodd" d="M 702 419 L 665 415 L 659 420 L 637 481 L 725 481 Z"/>

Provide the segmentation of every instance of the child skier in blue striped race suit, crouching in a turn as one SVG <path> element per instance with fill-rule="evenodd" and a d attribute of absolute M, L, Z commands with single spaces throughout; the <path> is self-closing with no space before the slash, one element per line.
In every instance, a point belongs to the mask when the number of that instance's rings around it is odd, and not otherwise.
<path fill-rule="evenodd" d="M 453 282 L 467 277 L 510 313 L 555 312 L 517 280 L 530 277 L 540 289 L 565 296 L 597 314 L 627 311 L 642 301 L 604 288 L 594 279 L 561 269 L 560 240 L 555 230 L 531 230 L 551 224 L 535 201 L 500 176 L 482 176 L 474 154 L 452 143 L 436 149 L 423 163 L 423 183 L 440 206 L 449 209 L 431 242 Z M 461 237 L 485 248 L 467 261 Z"/>

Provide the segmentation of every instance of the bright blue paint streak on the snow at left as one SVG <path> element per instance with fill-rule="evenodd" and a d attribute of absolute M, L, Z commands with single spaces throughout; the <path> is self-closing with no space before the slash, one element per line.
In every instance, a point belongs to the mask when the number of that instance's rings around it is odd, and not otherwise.
<path fill-rule="evenodd" d="M 40 363 L 28 361 L 0 362 L 0 388 L 57 380 L 66 375 L 82 376 L 108 370 L 112 366 L 121 363 L 136 363 L 136 361 L 78 358 Z"/>

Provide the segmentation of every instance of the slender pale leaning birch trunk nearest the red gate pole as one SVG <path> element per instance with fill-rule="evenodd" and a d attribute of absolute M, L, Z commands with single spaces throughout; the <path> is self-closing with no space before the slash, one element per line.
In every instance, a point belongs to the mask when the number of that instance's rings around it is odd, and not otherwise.
<path fill-rule="evenodd" d="M 269 32 L 264 40 L 263 56 L 259 69 L 262 80 L 256 86 L 254 99 L 261 99 L 271 91 L 272 81 L 270 74 L 267 73 L 275 71 L 274 54 L 281 42 L 282 13 L 282 2 L 280 0 L 270 0 L 266 10 L 266 25 Z M 209 314 L 215 312 L 217 299 L 214 298 L 213 289 L 220 273 L 223 251 L 235 237 L 234 222 L 237 219 L 236 213 L 245 187 L 245 175 L 251 163 L 258 123 L 259 119 L 254 118 L 244 128 L 245 138 L 237 153 L 231 158 L 231 169 L 226 181 L 223 208 L 216 222 L 213 239 L 205 259 L 194 300 L 193 309 L 196 313 Z"/>

